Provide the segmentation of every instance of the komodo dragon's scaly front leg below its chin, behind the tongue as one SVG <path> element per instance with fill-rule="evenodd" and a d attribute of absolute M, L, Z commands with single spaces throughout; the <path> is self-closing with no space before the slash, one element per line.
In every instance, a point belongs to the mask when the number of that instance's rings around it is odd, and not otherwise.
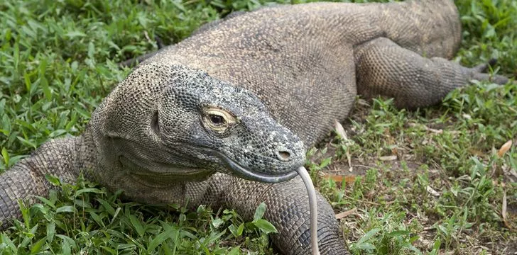
<path fill-rule="evenodd" d="M 234 208 L 246 220 L 253 219 L 260 203 L 266 203 L 264 218 L 278 230 L 278 234 L 271 235 L 278 249 L 283 254 L 310 254 L 308 193 L 300 177 L 268 184 L 215 174 L 209 182 L 208 199 L 221 199 L 215 204 Z M 320 193 L 317 193 L 317 210 L 320 254 L 348 254 L 334 211 Z"/>

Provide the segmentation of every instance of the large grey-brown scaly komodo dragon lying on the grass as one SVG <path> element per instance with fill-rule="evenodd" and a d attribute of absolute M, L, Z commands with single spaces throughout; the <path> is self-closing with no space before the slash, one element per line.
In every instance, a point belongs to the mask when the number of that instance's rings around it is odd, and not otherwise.
<path fill-rule="evenodd" d="M 50 140 L 2 174 L 0 220 L 20 217 L 17 198 L 48 194 L 45 174 L 72 182 L 83 171 L 143 203 L 188 200 L 250 218 L 265 202 L 276 246 L 308 254 L 300 178 L 237 176 L 285 176 L 303 164 L 357 94 L 418 108 L 471 79 L 506 83 L 446 60 L 460 31 L 450 0 L 273 6 L 205 26 L 138 65 L 82 135 Z M 347 254 L 320 195 L 318 206 L 322 254 Z"/>

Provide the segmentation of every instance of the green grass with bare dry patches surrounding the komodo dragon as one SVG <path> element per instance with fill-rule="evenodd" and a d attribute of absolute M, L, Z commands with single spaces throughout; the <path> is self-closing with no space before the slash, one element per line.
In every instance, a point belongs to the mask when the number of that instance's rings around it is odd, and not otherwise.
<path fill-rule="evenodd" d="M 203 23 L 263 4 L 2 1 L 0 171 L 46 140 L 79 134 L 129 73 L 116 63 L 156 50 L 156 35 L 178 42 Z M 497 58 L 492 71 L 515 76 L 517 2 L 456 4 L 464 28 L 456 60 Z M 389 98 L 359 100 L 344 127 L 349 139 L 331 134 L 308 166 L 334 210 L 352 210 L 341 220 L 352 254 L 517 251 L 517 149 L 499 155 L 508 140 L 517 144 L 516 84 L 477 83 L 418 111 L 396 109 Z M 127 203 L 82 179 L 56 184 L 58 192 L 1 233 L 2 254 L 274 253 L 263 208 L 245 222 L 232 210 Z"/>

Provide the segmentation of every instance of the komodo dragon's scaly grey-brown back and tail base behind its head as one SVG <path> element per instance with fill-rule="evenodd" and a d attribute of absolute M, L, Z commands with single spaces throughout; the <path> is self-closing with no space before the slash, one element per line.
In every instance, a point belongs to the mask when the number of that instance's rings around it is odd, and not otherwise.
<path fill-rule="evenodd" d="M 354 47 L 385 37 L 450 58 L 460 30 L 452 1 L 276 6 L 230 18 L 149 61 L 203 69 L 249 89 L 310 147 L 352 108 Z"/>

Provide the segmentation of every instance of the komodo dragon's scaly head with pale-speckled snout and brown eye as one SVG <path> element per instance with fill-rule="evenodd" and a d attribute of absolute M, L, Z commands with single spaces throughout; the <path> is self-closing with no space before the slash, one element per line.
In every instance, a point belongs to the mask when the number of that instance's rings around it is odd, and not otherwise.
<path fill-rule="evenodd" d="M 305 162 L 303 142 L 249 91 L 180 66 L 141 64 L 92 115 L 103 169 L 160 181 L 215 171 L 280 182 Z"/>

